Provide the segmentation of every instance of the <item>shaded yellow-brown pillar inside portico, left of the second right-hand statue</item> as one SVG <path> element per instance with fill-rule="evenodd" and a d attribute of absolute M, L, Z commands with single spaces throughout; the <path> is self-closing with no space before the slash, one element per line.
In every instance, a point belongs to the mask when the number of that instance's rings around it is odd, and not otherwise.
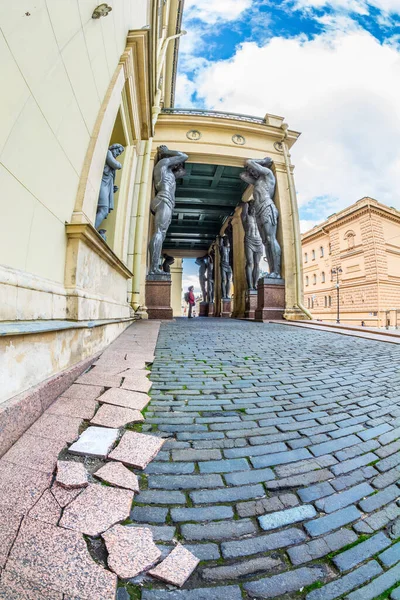
<path fill-rule="evenodd" d="M 245 295 L 247 289 L 245 253 L 244 253 L 244 229 L 241 219 L 242 208 L 238 207 L 232 217 L 232 249 L 233 273 L 234 273 L 234 298 L 232 317 L 240 319 L 245 313 Z"/>

